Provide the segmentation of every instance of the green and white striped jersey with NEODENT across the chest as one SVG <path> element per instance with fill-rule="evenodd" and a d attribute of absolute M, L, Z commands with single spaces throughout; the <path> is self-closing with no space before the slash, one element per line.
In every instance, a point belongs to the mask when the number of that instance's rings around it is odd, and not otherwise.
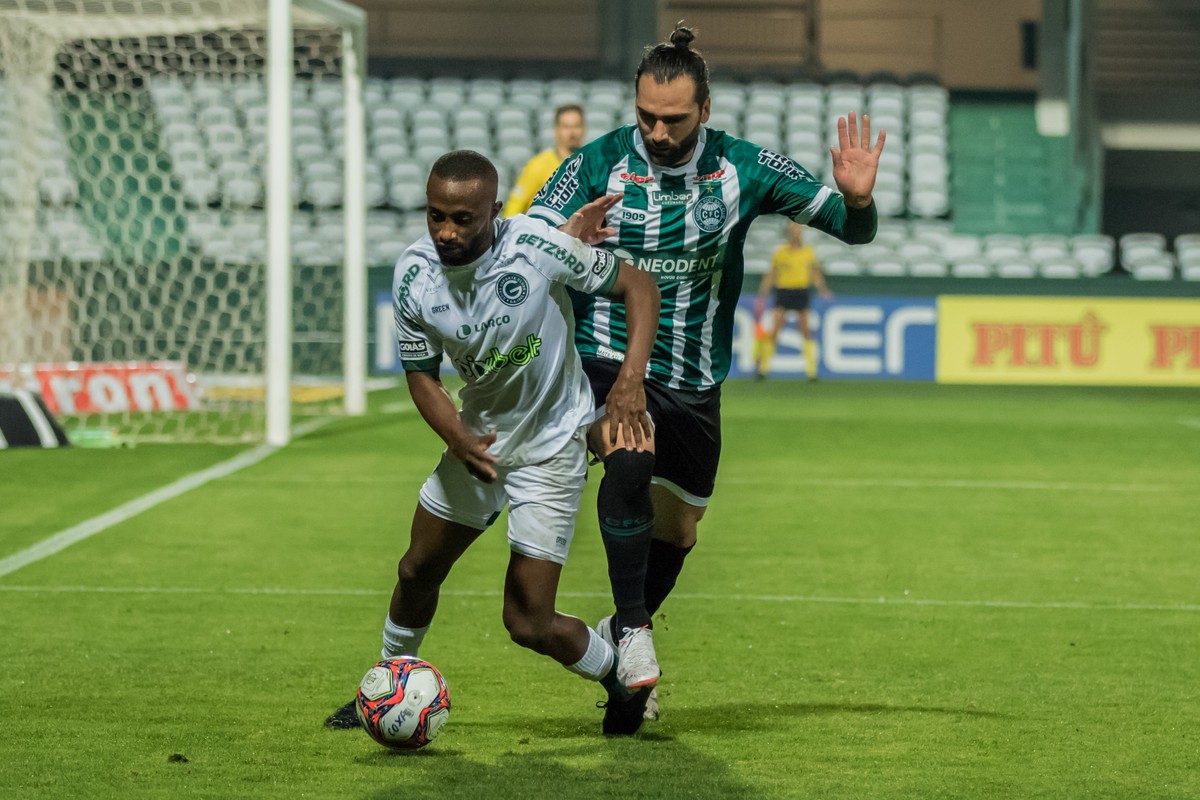
<path fill-rule="evenodd" d="M 728 374 L 742 251 L 757 216 L 780 213 L 846 239 L 838 192 L 787 156 L 713 128 L 701 128 L 691 160 L 673 168 L 650 162 L 637 126 L 617 128 L 563 162 L 528 213 L 559 225 L 619 192 L 610 212 L 617 233 L 604 247 L 658 281 L 662 311 L 647 380 L 672 389 L 708 389 Z M 622 361 L 625 307 L 578 295 L 575 303 L 580 354 Z"/>

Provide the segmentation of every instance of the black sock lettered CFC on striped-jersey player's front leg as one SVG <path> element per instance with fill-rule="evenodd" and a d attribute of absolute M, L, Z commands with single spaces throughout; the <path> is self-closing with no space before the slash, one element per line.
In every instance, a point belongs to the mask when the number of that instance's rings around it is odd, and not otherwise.
<path fill-rule="evenodd" d="M 617 630 L 650 624 L 646 610 L 646 563 L 654 529 L 650 475 L 654 453 L 616 450 L 604 459 L 596 510 L 608 557 Z M 618 637 L 619 638 L 619 637 Z"/>

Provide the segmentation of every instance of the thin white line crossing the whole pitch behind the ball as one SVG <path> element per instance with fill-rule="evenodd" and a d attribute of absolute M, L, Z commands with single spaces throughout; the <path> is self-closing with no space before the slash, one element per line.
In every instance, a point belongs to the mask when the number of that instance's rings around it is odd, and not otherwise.
<path fill-rule="evenodd" d="M 94 595 L 263 595 L 293 597 L 385 597 L 390 590 L 377 589 L 283 589 L 283 588 L 205 588 L 205 587 L 31 587 L 4 585 L 0 593 L 25 594 L 94 594 Z M 444 590 L 448 597 L 496 597 L 499 590 L 462 591 Z M 582 600 L 606 600 L 607 591 L 560 591 L 559 597 Z M 1099 612 L 1200 612 L 1196 603 L 1087 603 L 1087 602 L 1034 602 L 1025 600 L 934 600 L 920 597 L 822 597 L 816 595 L 709 595 L 677 593 L 672 600 L 698 602 L 754 602 L 754 603 L 828 603 L 840 606 L 935 606 L 949 608 L 1000 608 L 1000 609 L 1063 609 Z"/>

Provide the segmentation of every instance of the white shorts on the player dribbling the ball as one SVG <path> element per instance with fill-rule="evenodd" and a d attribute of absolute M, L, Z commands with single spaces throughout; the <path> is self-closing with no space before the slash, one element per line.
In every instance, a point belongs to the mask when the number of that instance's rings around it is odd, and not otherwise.
<path fill-rule="evenodd" d="M 461 461 L 442 453 L 421 487 L 426 511 L 468 528 L 488 528 L 509 505 L 509 548 L 554 564 L 566 564 L 575 535 L 575 515 L 588 477 L 587 426 L 540 464 L 497 467 L 496 481 L 484 483 Z"/>

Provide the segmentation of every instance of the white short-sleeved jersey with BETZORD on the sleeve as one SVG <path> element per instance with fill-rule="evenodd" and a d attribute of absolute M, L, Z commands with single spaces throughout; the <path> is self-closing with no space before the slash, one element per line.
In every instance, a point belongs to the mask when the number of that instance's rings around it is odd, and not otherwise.
<path fill-rule="evenodd" d="M 496 431 L 505 467 L 557 453 L 593 413 L 575 350 L 566 287 L 608 291 L 617 259 L 546 223 L 517 215 L 496 222 L 478 260 L 446 266 L 422 236 L 396 263 L 392 305 L 406 372 L 432 372 L 443 355 L 467 383 L 463 425 Z"/>

